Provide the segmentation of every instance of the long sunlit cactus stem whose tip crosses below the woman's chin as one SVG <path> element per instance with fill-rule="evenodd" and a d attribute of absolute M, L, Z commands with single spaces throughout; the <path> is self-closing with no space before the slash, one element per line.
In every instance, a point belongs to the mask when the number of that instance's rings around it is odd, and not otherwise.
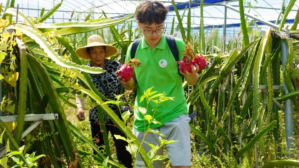
<path fill-rule="evenodd" d="M 48 54 L 48 56 L 58 65 L 65 67 L 65 68 L 74 68 L 83 72 L 92 73 L 92 74 L 100 74 L 103 73 L 102 68 L 95 68 L 89 66 L 83 66 L 75 64 L 74 62 L 67 61 L 63 59 L 52 47 L 52 44 L 48 41 L 47 38 L 39 34 L 36 30 L 32 27 L 23 24 L 13 24 L 7 27 L 7 29 L 17 29 L 19 28 L 22 30 L 24 34 L 32 38 L 39 44 L 39 46 Z"/>

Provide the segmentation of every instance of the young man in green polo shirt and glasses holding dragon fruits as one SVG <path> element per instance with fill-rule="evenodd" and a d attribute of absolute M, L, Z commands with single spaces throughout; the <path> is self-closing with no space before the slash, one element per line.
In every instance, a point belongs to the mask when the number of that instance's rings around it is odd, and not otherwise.
<path fill-rule="evenodd" d="M 137 107 L 147 107 L 147 102 L 140 102 L 140 98 L 144 91 L 150 87 L 153 87 L 152 91 L 165 92 L 166 96 L 174 97 L 173 101 L 164 101 L 158 105 L 154 118 L 161 124 L 151 124 L 150 128 L 166 135 L 166 137 L 162 137 L 164 139 L 179 141 L 165 145 L 170 162 L 174 168 L 189 168 L 191 166 L 190 127 L 188 124 L 190 118 L 188 117 L 187 103 L 181 75 L 178 72 L 178 64 L 163 34 L 167 12 L 167 7 L 156 1 L 145 1 L 140 4 L 135 17 L 143 38 L 138 45 L 135 58 L 141 61 L 141 67 L 135 67 L 135 79 L 131 78 L 128 82 L 124 82 L 121 77 L 118 77 L 118 79 L 126 88 L 133 89 L 137 87 L 135 99 L 135 106 Z M 175 38 L 175 42 L 179 51 L 179 60 L 181 60 L 183 58 L 184 42 L 179 38 Z M 131 59 L 131 47 L 132 44 L 128 48 L 126 62 Z M 180 73 L 184 75 L 189 84 L 194 85 L 199 78 L 198 71 L 199 67 L 196 64 L 192 67 L 192 73 Z M 150 102 L 147 114 L 153 115 L 152 109 L 155 107 L 155 103 Z M 148 122 L 145 122 L 146 125 L 144 125 L 144 117 L 137 108 L 135 108 L 134 117 L 133 133 L 139 141 L 142 141 Z M 158 145 L 158 138 L 159 135 L 149 132 L 145 141 Z M 151 149 L 145 143 L 143 147 L 147 152 Z M 157 152 L 157 155 L 162 154 L 162 149 Z M 143 165 L 144 162 L 138 155 L 136 167 L 141 168 Z M 154 161 L 153 166 L 162 168 L 163 162 Z"/>

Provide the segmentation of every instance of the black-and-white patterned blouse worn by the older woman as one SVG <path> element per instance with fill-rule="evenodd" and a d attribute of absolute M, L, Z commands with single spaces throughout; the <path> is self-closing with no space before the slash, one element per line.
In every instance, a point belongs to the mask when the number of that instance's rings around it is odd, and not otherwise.
<path fill-rule="evenodd" d="M 118 75 L 115 74 L 115 71 L 119 70 L 120 62 L 116 60 L 109 60 L 105 59 L 105 64 L 103 66 L 103 70 L 106 70 L 105 73 L 102 74 L 89 74 L 91 77 L 91 80 L 94 84 L 94 86 L 97 88 L 97 90 L 102 93 L 106 98 L 116 100 L 115 95 L 122 94 L 121 90 L 121 84 L 120 81 L 117 79 Z M 88 66 L 92 67 L 92 63 L 90 62 Z M 77 80 L 78 84 L 83 85 L 79 80 Z M 103 86 L 106 88 L 103 88 L 100 84 L 100 82 L 103 84 Z M 121 96 L 121 101 L 125 102 L 124 96 Z M 106 101 L 106 100 L 103 100 Z M 109 108 L 111 108 L 115 114 L 118 115 L 118 117 L 121 118 L 121 114 L 118 110 L 118 107 L 114 104 L 107 104 Z M 97 113 L 97 107 L 94 107 L 93 109 L 89 110 L 89 121 L 91 123 L 97 123 L 99 120 L 98 113 Z M 111 121 L 110 118 L 104 113 L 104 121 L 105 123 Z"/>

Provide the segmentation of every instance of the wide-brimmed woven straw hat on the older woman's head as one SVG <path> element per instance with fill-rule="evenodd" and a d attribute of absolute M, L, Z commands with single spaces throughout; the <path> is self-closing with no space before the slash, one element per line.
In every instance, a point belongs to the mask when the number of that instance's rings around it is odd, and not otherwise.
<path fill-rule="evenodd" d="M 77 55 L 80 58 L 90 59 L 90 56 L 87 53 L 87 47 L 95 47 L 95 46 L 105 46 L 106 47 L 105 58 L 114 56 L 115 54 L 118 53 L 118 50 L 115 47 L 113 47 L 112 45 L 109 45 L 109 44 L 105 44 L 103 38 L 96 34 L 89 36 L 89 38 L 87 39 L 87 45 L 84 47 L 78 48 L 75 52 L 77 53 Z"/>

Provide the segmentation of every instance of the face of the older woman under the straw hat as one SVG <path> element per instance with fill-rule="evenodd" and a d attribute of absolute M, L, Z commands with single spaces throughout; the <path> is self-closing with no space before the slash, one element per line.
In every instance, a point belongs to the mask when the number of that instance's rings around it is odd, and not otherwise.
<path fill-rule="evenodd" d="M 94 67 L 102 67 L 105 63 L 105 49 L 103 46 L 89 48 L 89 55 Z"/>

